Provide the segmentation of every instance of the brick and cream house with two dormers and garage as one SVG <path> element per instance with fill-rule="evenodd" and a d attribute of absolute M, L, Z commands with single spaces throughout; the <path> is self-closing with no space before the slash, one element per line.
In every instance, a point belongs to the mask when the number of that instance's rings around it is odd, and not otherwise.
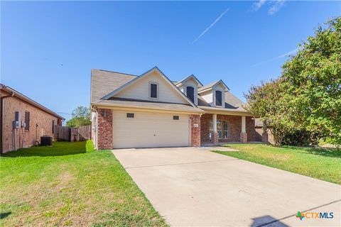
<path fill-rule="evenodd" d="M 172 82 L 158 67 L 140 76 L 92 70 L 97 149 L 200 146 L 255 141 L 254 116 L 222 80 Z"/>

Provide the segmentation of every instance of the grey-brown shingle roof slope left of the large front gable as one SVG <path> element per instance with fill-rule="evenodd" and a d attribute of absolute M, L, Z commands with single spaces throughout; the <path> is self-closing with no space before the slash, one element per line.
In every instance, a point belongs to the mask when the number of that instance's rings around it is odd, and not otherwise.
<path fill-rule="evenodd" d="M 121 87 L 137 76 L 106 70 L 91 70 L 91 102 L 98 102 L 109 92 Z"/>

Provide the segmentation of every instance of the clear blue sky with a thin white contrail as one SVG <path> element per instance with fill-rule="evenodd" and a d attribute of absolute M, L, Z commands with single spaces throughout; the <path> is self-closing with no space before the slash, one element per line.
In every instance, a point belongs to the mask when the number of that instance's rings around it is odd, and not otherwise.
<path fill-rule="evenodd" d="M 1 1 L 1 83 L 65 118 L 89 106 L 92 68 L 223 79 L 244 100 L 340 15 L 340 1 Z"/>

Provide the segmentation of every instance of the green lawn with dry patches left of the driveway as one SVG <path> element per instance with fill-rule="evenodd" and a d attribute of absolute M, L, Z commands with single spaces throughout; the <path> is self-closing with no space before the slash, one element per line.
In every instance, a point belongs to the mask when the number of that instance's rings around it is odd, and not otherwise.
<path fill-rule="evenodd" d="M 0 157 L 1 226 L 166 226 L 109 150 L 55 142 Z"/>

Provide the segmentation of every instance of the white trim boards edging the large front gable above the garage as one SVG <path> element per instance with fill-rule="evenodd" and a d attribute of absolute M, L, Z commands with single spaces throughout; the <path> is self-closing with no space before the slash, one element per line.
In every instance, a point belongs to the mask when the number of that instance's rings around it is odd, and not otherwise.
<path fill-rule="evenodd" d="M 114 89 L 114 91 L 110 92 L 109 94 L 106 94 L 104 96 L 102 96 L 101 99 L 106 100 L 111 98 L 112 96 L 114 96 L 115 94 L 121 92 L 122 90 L 126 89 L 126 87 L 131 86 L 131 84 L 134 84 L 136 82 L 139 82 L 139 80 L 141 80 L 142 78 L 146 77 L 146 75 L 150 74 L 151 72 L 157 71 L 159 74 L 161 74 L 161 77 L 163 77 L 164 79 L 166 79 L 166 82 L 168 82 L 168 84 L 171 85 L 171 87 L 173 87 L 173 89 L 175 89 L 176 92 L 178 92 L 178 94 L 180 94 L 180 96 L 183 96 L 183 98 L 188 101 L 188 103 L 194 107 L 195 104 L 193 104 L 192 101 L 190 101 L 190 99 L 188 99 L 188 96 L 185 96 L 185 94 L 183 94 L 183 92 L 180 91 L 180 89 L 178 89 L 178 87 L 175 86 L 175 84 L 173 82 L 171 82 L 170 79 L 168 79 L 168 77 L 166 77 L 165 74 L 163 74 L 163 72 L 161 70 L 158 69 L 158 67 L 153 67 L 151 68 L 151 70 L 148 70 L 147 72 L 144 72 L 143 74 L 141 74 L 141 76 L 139 77 L 135 77 L 134 79 L 131 79 L 129 82 L 126 82 L 126 84 L 121 85 L 121 87 L 117 87 L 117 89 Z"/>

